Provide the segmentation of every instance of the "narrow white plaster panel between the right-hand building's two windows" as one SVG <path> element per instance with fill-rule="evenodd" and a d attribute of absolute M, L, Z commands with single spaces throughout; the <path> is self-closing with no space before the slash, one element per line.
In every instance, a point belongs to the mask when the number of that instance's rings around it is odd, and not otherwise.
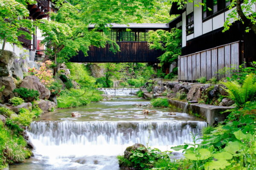
<path fill-rule="evenodd" d="M 195 4 L 198 3 L 201 3 L 201 0 L 195 0 Z M 202 29 L 202 6 L 194 6 L 194 38 L 203 34 Z"/>

